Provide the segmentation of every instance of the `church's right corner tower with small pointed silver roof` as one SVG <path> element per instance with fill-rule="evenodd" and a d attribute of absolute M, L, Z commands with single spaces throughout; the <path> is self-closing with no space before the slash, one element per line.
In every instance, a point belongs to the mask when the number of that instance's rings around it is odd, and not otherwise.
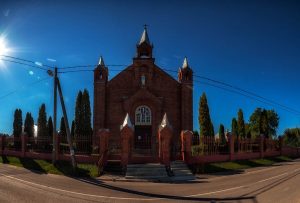
<path fill-rule="evenodd" d="M 193 130 L 193 70 L 187 57 L 178 70 L 178 81 L 181 83 L 181 129 Z"/>

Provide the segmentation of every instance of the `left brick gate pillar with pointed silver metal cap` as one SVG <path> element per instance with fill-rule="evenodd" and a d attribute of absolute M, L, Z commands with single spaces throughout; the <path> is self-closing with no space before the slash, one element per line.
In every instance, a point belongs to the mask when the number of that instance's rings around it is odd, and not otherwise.
<path fill-rule="evenodd" d="M 120 135 L 121 135 L 121 147 L 122 147 L 121 164 L 123 168 L 126 168 L 131 158 L 131 150 L 132 150 L 131 143 L 132 143 L 133 133 L 134 133 L 134 128 L 133 125 L 131 124 L 128 113 L 120 129 L 121 129 Z"/>

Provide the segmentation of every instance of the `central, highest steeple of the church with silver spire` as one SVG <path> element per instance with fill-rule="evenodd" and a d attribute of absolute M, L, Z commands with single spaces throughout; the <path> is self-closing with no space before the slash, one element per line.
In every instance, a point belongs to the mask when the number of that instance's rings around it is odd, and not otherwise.
<path fill-rule="evenodd" d="M 138 59 L 152 58 L 153 45 L 150 43 L 149 40 L 147 25 L 144 25 L 144 31 L 142 37 L 140 39 L 140 42 L 137 44 L 136 48 L 137 48 L 136 58 Z"/>

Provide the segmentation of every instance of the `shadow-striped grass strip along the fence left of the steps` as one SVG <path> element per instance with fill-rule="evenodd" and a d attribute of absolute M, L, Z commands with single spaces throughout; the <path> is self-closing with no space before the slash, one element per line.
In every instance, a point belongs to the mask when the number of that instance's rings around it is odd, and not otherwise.
<path fill-rule="evenodd" d="M 77 164 L 78 169 L 74 172 L 72 170 L 71 163 L 67 161 L 57 161 L 57 163 L 54 166 L 51 161 L 29 158 L 17 158 L 11 156 L 0 156 L 0 163 L 24 167 L 34 172 L 51 173 L 67 176 L 96 177 L 98 173 L 97 167 L 92 164 Z"/>

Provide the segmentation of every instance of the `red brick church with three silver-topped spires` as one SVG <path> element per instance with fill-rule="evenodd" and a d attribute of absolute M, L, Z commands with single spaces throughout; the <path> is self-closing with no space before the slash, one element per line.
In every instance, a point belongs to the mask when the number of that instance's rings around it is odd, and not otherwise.
<path fill-rule="evenodd" d="M 181 131 L 193 130 L 193 71 L 187 58 L 176 80 L 155 64 L 152 52 L 145 27 L 130 66 L 108 80 L 109 69 L 101 57 L 94 70 L 94 132 L 109 131 L 110 156 L 122 154 L 122 124 L 132 130 L 128 145 L 132 159 L 158 158 L 159 129 L 165 114 L 172 130 L 171 158 L 181 150 Z"/>

